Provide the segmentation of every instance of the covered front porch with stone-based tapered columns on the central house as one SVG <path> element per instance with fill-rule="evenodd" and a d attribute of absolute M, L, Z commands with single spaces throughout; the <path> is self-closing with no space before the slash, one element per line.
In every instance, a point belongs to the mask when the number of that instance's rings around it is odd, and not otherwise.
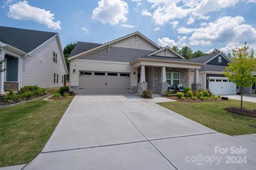
<path fill-rule="evenodd" d="M 147 59 L 148 60 L 148 59 Z M 133 68 L 138 69 L 138 87 L 132 87 L 132 93 L 142 94 L 151 90 L 154 94 L 165 94 L 166 91 L 181 90 L 189 86 L 189 70 L 195 69 L 196 76 L 192 85 L 193 90 L 199 90 L 198 69 L 202 64 L 184 61 L 141 61 L 132 62 Z M 180 89 L 179 89 L 180 88 Z"/>

